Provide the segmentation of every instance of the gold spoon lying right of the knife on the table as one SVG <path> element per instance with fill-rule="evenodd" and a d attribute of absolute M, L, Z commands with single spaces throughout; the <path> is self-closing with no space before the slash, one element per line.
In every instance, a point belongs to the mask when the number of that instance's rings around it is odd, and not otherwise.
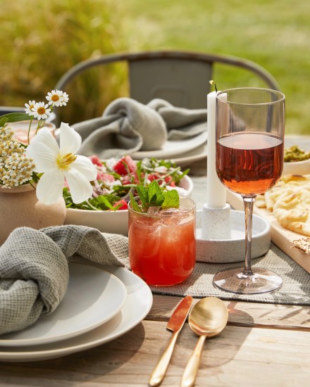
<path fill-rule="evenodd" d="M 216 336 L 225 328 L 228 321 L 228 310 L 222 300 L 216 297 L 206 297 L 199 300 L 190 312 L 188 322 L 190 329 L 199 335 L 194 352 L 187 362 L 182 376 L 181 387 L 194 386 L 199 369 L 204 341 L 207 337 Z"/>

